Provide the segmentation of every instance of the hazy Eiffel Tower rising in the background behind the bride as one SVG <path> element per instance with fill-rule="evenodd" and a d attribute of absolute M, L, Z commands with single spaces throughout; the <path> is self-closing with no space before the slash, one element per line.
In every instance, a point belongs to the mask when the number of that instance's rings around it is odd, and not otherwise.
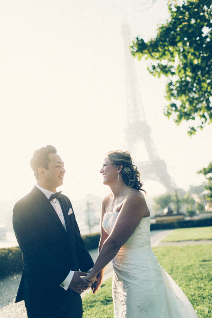
<path fill-rule="evenodd" d="M 126 23 L 122 26 L 122 35 L 125 45 L 127 75 L 127 128 L 125 129 L 127 149 L 134 156 L 138 142 L 143 141 L 149 160 L 135 163 L 141 173 L 141 180 L 159 181 L 168 191 L 173 191 L 174 182 L 167 172 L 165 161 L 159 158 L 151 138 L 151 128 L 145 119 L 134 60 L 129 50 L 131 34 Z"/>

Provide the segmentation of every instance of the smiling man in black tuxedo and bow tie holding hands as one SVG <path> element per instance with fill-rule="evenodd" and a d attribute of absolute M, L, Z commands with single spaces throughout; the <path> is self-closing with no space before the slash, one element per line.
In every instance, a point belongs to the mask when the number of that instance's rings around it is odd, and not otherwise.
<path fill-rule="evenodd" d="M 24 269 L 16 302 L 24 300 L 29 318 L 81 318 L 83 279 L 93 266 L 63 184 L 64 163 L 50 145 L 31 159 L 37 179 L 13 210 L 13 228 Z M 82 271 L 82 272 L 81 272 Z"/>

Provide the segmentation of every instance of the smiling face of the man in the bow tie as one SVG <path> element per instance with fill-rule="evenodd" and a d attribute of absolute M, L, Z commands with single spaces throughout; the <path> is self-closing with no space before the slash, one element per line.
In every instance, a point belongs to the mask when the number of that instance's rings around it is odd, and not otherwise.
<path fill-rule="evenodd" d="M 52 192 L 56 191 L 56 188 L 63 184 L 63 177 L 65 174 L 64 162 L 56 153 L 49 154 L 49 169 L 46 170 L 45 183 L 48 189 Z"/>

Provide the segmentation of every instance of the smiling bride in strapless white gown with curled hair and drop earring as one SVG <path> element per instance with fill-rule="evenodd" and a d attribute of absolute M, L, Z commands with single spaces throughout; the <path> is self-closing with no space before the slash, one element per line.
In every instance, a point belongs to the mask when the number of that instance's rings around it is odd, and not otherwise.
<path fill-rule="evenodd" d="M 112 193 L 102 201 L 99 256 L 85 277 L 94 282 L 93 294 L 113 259 L 115 318 L 197 318 L 151 249 L 150 212 L 129 152 L 109 152 L 100 173 Z"/>

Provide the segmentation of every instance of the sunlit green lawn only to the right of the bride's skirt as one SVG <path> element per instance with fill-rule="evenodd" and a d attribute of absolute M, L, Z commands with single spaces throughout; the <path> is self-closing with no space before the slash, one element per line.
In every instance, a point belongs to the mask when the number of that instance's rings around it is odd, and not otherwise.
<path fill-rule="evenodd" d="M 153 251 L 198 317 L 212 318 L 212 244 L 157 246 Z"/>

